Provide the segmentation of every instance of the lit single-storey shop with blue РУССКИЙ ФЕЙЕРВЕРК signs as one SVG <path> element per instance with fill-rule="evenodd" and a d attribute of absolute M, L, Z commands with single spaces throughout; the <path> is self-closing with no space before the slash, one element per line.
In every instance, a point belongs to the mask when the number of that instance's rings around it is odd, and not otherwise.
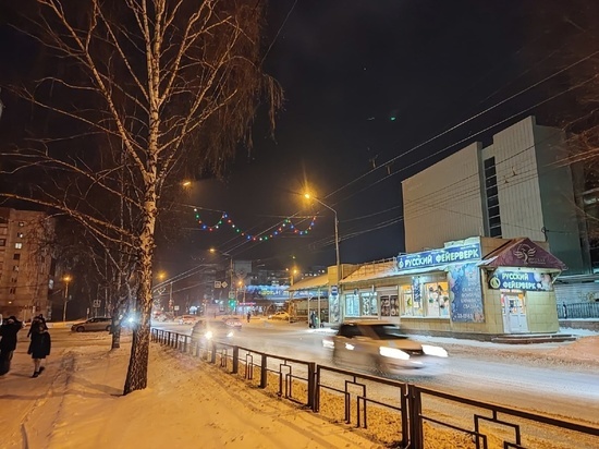
<path fill-rule="evenodd" d="M 345 277 L 343 319 L 384 319 L 438 335 L 557 332 L 552 280 L 563 269 L 528 239 L 450 242 Z"/>

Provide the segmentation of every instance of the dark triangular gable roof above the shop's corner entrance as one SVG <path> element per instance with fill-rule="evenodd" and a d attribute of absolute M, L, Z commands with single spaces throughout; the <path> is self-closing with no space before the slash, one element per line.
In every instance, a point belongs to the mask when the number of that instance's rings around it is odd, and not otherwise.
<path fill-rule="evenodd" d="M 530 239 L 513 239 L 489 253 L 479 264 L 485 268 L 523 267 L 554 271 L 566 270 L 565 264 Z"/>

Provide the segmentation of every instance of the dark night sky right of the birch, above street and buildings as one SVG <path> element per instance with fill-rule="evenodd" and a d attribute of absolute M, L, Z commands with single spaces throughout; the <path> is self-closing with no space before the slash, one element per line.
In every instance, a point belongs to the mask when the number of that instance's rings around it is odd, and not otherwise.
<path fill-rule="evenodd" d="M 272 231 L 286 217 L 304 229 L 309 218 L 302 217 L 318 213 L 316 226 L 308 235 L 246 243 L 227 228 L 201 231 L 188 208 L 185 232 L 161 243 L 157 266 L 184 269 L 208 257 L 209 247 L 271 268 L 293 260 L 302 269 L 334 265 L 333 215 L 306 203 L 306 185 L 338 211 L 342 262 L 398 255 L 404 250 L 403 179 L 470 142 L 488 142 L 527 114 L 542 124 L 560 123 L 551 105 L 526 109 L 563 80 L 435 138 L 554 68 L 547 54 L 560 48 L 564 33 L 576 33 L 565 20 L 570 12 L 555 7 L 560 3 L 272 0 L 265 69 L 285 92 L 274 139 L 258 117 L 253 150 L 240 149 L 224 182 L 196 181 L 181 203 L 225 210 L 252 234 Z M 2 26 L 0 84 L 15 61 L 26 66 L 7 36 L 13 34 Z M 200 217 L 211 225 L 220 213 L 203 209 Z"/>

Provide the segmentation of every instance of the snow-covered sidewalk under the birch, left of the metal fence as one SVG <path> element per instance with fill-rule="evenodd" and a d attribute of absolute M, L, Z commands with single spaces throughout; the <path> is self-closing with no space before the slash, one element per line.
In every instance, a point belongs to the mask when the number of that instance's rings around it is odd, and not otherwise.
<path fill-rule="evenodd" d="M 122 397 L 129 337 L 56 329 L 46 371 L 32 379 L 21 341 L 0 378 L 2 448 L 381 448 L 358 433 L 247 388 L 164 348 L 150 350 L 149 387 Z"/>

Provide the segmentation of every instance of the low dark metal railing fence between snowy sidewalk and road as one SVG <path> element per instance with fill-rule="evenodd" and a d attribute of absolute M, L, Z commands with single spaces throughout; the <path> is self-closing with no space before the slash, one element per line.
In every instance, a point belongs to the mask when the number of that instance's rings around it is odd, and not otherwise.
<path fill-rule="evenodd" d="M 423 449 L 435 439 L 455 447 L 598 448 L 599 428 L 542 414 L 463 398 L 430 388 L 314 362 L 283 357 L 225 342 L 193 341 L 190 336 L 151 329 L 151 341 L 199 356 L 224 372 L 256 381 L 315 413 L 369 430 L 374 420 L 388 446 Z M 240 365 L 244 369 L 240 369 Z M 323 405 L 327 406 L 323 406 Z M 327 409 L 327 410 L 323 410 Z M 354 424 L 355 423 L 355 424 Z M 381 424 L 382 423 L 382 424 Z M 368 434 L 368 432 L 367 432 Z M 547 445 L 547 446 L 543 446 Z"/>

